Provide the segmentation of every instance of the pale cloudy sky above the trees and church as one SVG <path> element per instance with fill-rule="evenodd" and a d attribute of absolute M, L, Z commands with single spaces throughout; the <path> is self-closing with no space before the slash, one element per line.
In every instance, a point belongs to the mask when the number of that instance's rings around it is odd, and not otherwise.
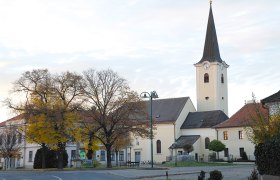
<path fill-rule="evenodd" d="M 213 0 L 229 116 L 280 90 L 280 1 Z M 191 98 L 208 0 L 0 0 L 0 101 L 22 73 L 112 69 L 138 93 Z M 15 114 L 0 104 L 0 122 Z"/>

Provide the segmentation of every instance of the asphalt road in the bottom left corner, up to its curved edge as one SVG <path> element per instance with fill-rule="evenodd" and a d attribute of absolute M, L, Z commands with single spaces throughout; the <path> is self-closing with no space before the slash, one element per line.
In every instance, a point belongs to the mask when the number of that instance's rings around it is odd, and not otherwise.
<path fill-rule="evenodd" d="M 0 171 L 0 180 L 126 180 L 128 178 L 94 171 Z"/>

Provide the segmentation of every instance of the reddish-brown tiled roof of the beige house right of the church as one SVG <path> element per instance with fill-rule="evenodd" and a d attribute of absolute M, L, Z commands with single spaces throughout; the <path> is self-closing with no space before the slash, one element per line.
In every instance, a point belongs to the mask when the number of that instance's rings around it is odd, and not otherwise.
<path fill-rule="evenodd" d="M 228 120 L 218 124 L 215 128 L 244 127 L 252 123 L 252 118 L 256 117 L 257 110 L 263 115 L 268 115 L 268 110 L 264 109 L 260 103 L 245 104 L 239 111 Z"/>

